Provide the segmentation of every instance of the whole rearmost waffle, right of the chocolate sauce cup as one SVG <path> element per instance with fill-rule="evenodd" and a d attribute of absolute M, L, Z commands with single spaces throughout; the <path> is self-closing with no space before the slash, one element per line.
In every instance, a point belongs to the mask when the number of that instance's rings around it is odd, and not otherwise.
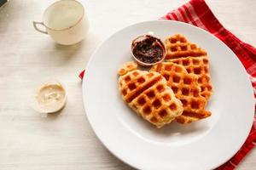
<path fill-rule="evenodd" d="M 189 73 L 196 74 L 201 87 L 201 95 L 209 99 L 212 95 L 212 83 L 209 75 L 207 51 L 188 41 L 181 34 L 166 38 L 166 61 L 183 65 Z"/>

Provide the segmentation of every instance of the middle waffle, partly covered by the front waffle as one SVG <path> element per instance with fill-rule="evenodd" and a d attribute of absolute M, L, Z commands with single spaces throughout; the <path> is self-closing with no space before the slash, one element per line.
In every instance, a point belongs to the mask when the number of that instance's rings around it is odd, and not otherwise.
<path fill-rule="evenodd" d="M 177 99 L 183 103 L 183 114 L 176 118 L 177 122 L 188 124 L 211 116 L 210 111 L 205 111 L 207 99 L 201 96 L 198 77 L 188 73 L 183 65 L 172 62 L 163 62 L 150 71 L 160 72 L 166 78 L 168 86 L 172 88 Z"/>

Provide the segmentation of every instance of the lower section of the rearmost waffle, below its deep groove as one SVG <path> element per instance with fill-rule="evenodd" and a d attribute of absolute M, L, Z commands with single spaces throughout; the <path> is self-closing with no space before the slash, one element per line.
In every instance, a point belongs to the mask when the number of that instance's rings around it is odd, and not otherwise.
<path fill-rule="evenodd" d="M 207 56 L 169 59 L 169 61 L 183 65 L 189 73 L 197 75 L 201 96 L 206 99 L 210 98 L 212 95 L 212 83 L 210 82 L 209 60 Z"/>

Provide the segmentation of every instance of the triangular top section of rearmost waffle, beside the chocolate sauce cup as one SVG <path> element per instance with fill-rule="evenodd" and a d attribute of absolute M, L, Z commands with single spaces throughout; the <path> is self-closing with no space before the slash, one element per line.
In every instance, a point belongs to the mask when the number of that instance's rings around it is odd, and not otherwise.
<path fill-rule="evenodd" d="M 166 38 L 166 59 L 176 59 L 188 56 L 204 56 L 207 51 L 191 43 L 181 34 L 175 34 Z"/>

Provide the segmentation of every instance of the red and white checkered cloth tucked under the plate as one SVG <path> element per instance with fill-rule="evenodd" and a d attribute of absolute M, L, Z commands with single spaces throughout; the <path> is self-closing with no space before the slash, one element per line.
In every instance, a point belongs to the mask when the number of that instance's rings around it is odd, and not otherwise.
<path fill-rule="evenodd" d="M 191 0 L 189 3 L 184 4 L 180 8 L 172 10 L 161 19 L 179 20 L 201 27 L 202 29 L 211 32 L 214 36 L 218 37 L 218 39 L 224 42 L 236 54 L 242 65 L 244 65 L 246 68 L 248 77 L 253 84 L 254 97 L 256 99 L 256 48 L 253 48 L 253 46 L 247 44 L 246 42 L 242 42 L 230 31 L 225 29 L 214 14 L 212 14 L 211 9 L 207 6 L 207 3 L 204 0 Z M 84 71 L 80 73 L 79 77 L 84 77 Z M 254 116 L 251 132 L 241 149 L 238 150 L 236 155 L 233 156 L 229 161 L 224 163 L 224 165 L 218 167 L 217 170 L 234 169 L 255 145 L 256 116 Z"/>

